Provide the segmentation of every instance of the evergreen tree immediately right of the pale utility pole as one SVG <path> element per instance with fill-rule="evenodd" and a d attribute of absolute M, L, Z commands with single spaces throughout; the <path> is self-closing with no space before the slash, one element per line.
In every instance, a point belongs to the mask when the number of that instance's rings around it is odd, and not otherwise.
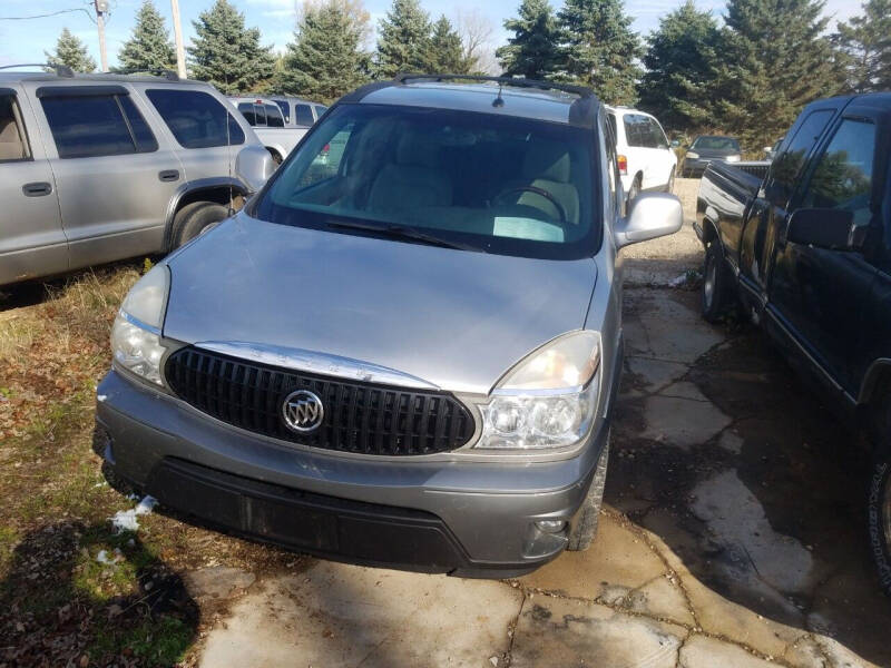
<path fill-rule="evenodd" d="M 244 27 L 244 14 L 228 0 L 193 21 L 195 39 L 188 48 L 192 76 L 216 86 L 225 95 L 262 91 L 275 73 L 272 47 L 260 45 L 260 30 Z"/>

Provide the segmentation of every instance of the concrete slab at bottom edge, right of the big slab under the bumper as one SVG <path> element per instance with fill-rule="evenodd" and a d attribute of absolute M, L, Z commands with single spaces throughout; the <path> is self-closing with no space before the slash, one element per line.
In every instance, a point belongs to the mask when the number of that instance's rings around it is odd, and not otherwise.
<path fill-rule="evenodd" d="M 674 668 L 687 631 L 606 606 L 536 596 L 523 605 L 511 668 Z"/>

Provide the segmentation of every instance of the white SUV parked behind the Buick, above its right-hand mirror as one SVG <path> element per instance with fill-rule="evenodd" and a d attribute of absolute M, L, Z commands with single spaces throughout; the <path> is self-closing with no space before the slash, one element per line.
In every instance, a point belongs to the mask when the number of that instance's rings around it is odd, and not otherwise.
<path fill-rule="evenodd" d="M 621 187 L 628 202 L 645 190 L 673 191 L 677 156 L 659 121 L 626 107 L 607 107 L 607 120 L 616 137 Z"/>

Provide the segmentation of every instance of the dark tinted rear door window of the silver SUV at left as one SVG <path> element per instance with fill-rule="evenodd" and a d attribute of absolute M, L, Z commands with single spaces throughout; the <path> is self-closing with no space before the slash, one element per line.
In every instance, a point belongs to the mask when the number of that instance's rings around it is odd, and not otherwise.
<path fill-rule="evenodd" d="M 158 148 L 128 95 L 45 96 L 40 104 L 60 158 L 118 156 Z"/>

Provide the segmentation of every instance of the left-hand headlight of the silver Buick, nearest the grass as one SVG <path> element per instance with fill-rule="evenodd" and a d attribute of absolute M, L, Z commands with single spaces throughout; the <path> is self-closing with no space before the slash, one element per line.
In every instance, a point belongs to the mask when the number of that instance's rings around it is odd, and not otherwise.
<path fill-rule="evenodd" d="M 167 350 L 160 328 L 169 289 L 169 269 L 165 265 L 153 268 L 127 294 L 111 327 L 115 362 L 157 385 L 163 384 L 160 360 Z"/>

